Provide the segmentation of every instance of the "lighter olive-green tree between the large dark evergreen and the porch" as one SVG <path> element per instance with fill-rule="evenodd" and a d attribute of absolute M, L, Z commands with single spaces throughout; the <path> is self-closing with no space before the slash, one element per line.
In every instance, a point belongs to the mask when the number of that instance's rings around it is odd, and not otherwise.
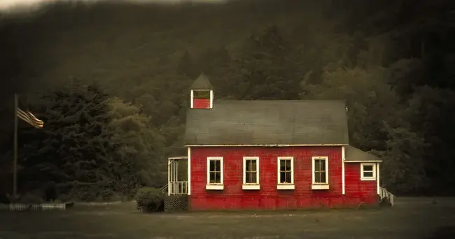
<path fill-rule="evenodd" d="M 119 158 L 119 179 L 123 193 L 130 194 L 139 186 L 165 185 L 167 165 L 162 148 L 165 139 L 152 128 L 150 118 L 141 114 L 137 107 L 119 98 L 109 100 L 113 131 L 111 141 Z"/>

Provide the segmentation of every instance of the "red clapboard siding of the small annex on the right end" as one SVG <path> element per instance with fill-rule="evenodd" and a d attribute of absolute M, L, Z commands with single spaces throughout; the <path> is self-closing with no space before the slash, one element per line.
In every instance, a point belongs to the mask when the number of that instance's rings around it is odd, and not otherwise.
<path fill-rule="evenodd" d="M 363 198 L 365 203 L 377 203 L 377 181 L 360 180 L 360 163 L 344 163 L 346 195 Z"/>

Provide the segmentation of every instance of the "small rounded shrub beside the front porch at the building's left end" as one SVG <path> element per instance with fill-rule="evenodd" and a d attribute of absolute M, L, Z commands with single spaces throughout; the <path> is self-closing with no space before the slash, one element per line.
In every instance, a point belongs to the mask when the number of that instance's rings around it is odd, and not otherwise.
<path fill-rule="evenodd" d="M 161 212 L 165 208 L 165 193 L 160 189 L 141 188 L 137 191 L 134 199 L 137 203 L 137 209 L 142 212 Z"/>

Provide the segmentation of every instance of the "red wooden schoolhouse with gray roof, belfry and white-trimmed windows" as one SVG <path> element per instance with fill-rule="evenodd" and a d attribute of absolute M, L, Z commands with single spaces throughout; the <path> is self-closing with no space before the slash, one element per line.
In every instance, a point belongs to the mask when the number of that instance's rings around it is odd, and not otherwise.
<path fill-rule="evenodd" d="M 203 74 L 190 100 L 188 156 L 169 158 L 169 195 L 188 194 L 189 210 L 379 203 L 381 161 L 349 146 L 343 101 L 214 100 Z"/>

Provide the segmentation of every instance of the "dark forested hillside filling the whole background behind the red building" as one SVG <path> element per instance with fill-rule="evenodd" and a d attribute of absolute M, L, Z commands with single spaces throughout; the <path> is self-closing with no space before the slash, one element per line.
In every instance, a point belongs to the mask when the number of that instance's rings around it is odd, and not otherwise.
<path fill-rule="evenodd" d="M 107 200 L 166 184 L 204 71 L 217 99 L 346 100 L 351 144 L 384 159 L 383 186 L 453 195 L 453 8 L 368 3 L 73 3 L 1 17 L 3 191 L 13 92 L 45 121 L 20 125 L 20 191 Z"/>

